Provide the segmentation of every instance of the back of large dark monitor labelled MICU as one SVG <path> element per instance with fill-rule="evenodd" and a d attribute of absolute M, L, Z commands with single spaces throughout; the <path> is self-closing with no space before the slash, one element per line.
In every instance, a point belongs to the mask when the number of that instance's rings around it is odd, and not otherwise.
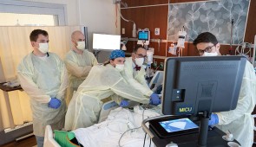
<path fill-rule="evenodd" d="M 245 66 L 242 56 L 167 58 L 163 114 L 197 116 L 235 109 Z"/>

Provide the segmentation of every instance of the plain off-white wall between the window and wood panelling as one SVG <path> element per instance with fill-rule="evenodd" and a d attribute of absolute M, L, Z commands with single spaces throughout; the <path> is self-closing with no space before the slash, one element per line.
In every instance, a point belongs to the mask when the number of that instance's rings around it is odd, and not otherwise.
<path fill-rule="evenodd" d="M 113 0 L 23 0 L 66 5 L 66 24 L 88 27 L 89 50 L 92 50 L 93 33 L 120 35 L 120 16 L 115 16 Z M 108 59 L 108 52 L 99 54 L 100 62 Z"/>

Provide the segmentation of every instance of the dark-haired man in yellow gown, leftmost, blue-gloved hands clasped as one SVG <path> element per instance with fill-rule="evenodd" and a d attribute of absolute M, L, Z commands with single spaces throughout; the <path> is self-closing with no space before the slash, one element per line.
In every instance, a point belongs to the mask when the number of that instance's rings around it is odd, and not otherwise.
<path fill-rule="evenodd" d="M 37 146 L 41 147 L 46 125 L 56 130 L 63 128 L 68 74 L 62 60 L 48 52 L 49 37 L 45 30 L 33 30 L 30 42 L 34 50 L 20 62 L 17 74 L 23 90 L 30 96 L 33 131 Z"/>

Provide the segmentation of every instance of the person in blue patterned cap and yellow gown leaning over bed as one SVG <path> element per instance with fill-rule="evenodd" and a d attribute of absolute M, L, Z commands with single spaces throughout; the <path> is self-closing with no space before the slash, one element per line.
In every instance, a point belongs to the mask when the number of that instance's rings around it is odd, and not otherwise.
<path fill-rule="evenodd" d="M 71 99 L 66 114 L 66 131 L 77 128 L 85 128 L 94 125 L 98 121 L 99 112 L 102 109 L 102 99 L 119 95 L 125 99 L 131 99 L 147 104 L 147 96 L 135 90 L 122 78 L 125 54 L 121 50 L 114 50 L 109 56 L 109 61 L 104 65 L 92 67 L 86 80 L 78 87 Z M 116 98 L 116 97 L 115 97 Z M 115 99 L 119 105 L 126 105 L 126 100 Z"/>

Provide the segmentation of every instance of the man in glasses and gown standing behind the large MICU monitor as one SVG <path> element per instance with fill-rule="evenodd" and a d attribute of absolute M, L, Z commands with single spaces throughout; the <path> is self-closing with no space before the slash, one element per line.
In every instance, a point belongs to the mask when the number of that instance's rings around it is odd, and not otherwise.
<path fill-rule="evenodd" d="M 215 35 L 204 32 L 197 36 L 194 45 L 201 56 L 220 54 L 220 43 Z M 209 125 L 216 125 L 221 131 L 229 131 L 242 147 L 253 145 L 254 119 L 252 112 L 256 102 L 256 76 L 253 65 L 246 61 L 246 67 L 240 89 L 237 106 L 228 112 L 216 112 L 211 115 Z M 221 104 L 220 104 L 221 105 Z"/>

